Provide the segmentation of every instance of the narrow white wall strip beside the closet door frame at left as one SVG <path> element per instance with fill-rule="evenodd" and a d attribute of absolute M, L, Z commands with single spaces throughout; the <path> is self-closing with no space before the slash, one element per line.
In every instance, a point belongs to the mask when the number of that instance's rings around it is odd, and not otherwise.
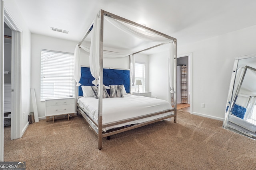
<path fill-rule="evenodd" d="M 22 18 L 22 14 L 18 9 L 15 0 L 4 1 L 5 8 L 10 12 L 16 24 L 22 29 L 22 56 L 21 56 L 21 112 L 20 129 L 24 132 L 24 128 L 28 125 L 28 114 L 30 113 L 30 64 L 31 64 L 31 33 L 26 22 Z M 21 134 L 21 132 L 20 132 Z"/>

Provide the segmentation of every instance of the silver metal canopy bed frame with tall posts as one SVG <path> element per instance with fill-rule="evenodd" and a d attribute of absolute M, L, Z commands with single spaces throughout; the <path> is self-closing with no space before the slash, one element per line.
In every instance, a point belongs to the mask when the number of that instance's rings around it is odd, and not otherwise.
<path fill-rule="evenodd" d="M 148 124 L 151 124 L 151 123 L 162 121 L 164 119 L 171 118 L 171 117 L 174 117 L 174 123 L 176 123 L 176 115 L 177 115 L 177 110 L 176 110 L 176 107 L 177 107 L 176 106 L 176 84 L 174 83 L 174 96 L 173 96 L 173 101 L 174 101 L 173 107 L 174 108 L 173 109 L 169 109 L 169 110 L 166 110 L 166 111 L 155 112 L 155 113 L 150 113 L 148 115 L 133 117 L 131 119 L 125 119 L 125 120 L 122 120 L 122 121 L 116 121 L 116 122 L 112 122 L 112 123 L 102 125 L 102 91 L 103 91 L 102 77 L 103 77 L 103 32 L 104 32 L 104 28 L 103 28 L 104 24 L 103 23 L 104 23 L 104 16 L 111 17 L 111 18 L 114 18 L 116 20 L 135 25 L 136 27 L 141 27 L 143 29 L 147 29 L 148 31 L 151 31 L 155 34 L 158 34 L 158 35 L 162 36 L 162 37 L 166 37 L 166 38 L 170 39 L 170 41 L 174 41 L 174 66 L 175 66 L 174 67 L 174 79 L 176 79 L 176 62 L 177 62 L 176 61 L 176 58 L 177 58 L 177 56 L 176 56 L 176 51 L 177 51 L 176 38 L 170 37 L 169 35 L 160 33 L 158 31 L 155 31 L 154 29 L 151 29 L 151 28 L 148 28 L 144 25 L 141 25 L 141 24 L 135 23 L 133 21 L 127 20 L 127 19 L 122 18 L 120 16 L 116 16 L 116 15 L 111 14 L 109 12 L 106 12 L 104 10 L 100 10 L 100 63 L 99 63 L 100 78 L 99 78 L 99 98 L 98 98 L 98 100 L 99 100 L 99 102 L 98 102 L 98 123 L 96 123 L 92 118 L 90 118 L 90 116 L 88 116 L 88 114 L 80 106 L 77 105 L 77 112 L 82 114 L 82 116 L 87 121 L 90 128 L 94 131 L 94 133 L 98 137 L 98 149 L 99 150 L 102 149 L 102 138 L 103 137 L 109 137 L 110 135 L 114 135 L 114 134 L 117 134 L 117 133 L 121 133 L 121 132 L 124 132 L 124 131 L 135 129 L 137 127 L 142 127 L 144 125 L 148 125 Z M 87 35 L 92 30 L 92 27 L 93 27 L 93 23 L 90 25 L 88 31 L 86 32 L 86 35 L 80 41 L 78 46 L 80 46 L 82 44 L 84 39 L 87 37 Z M 146 50 L 149 50 L 149 49 L 152 49 L 154 47 L 158 47 L 158 46 L 164 45 L 164 44 L 166 44 L 166 43 L 161 43 L 159 45 L 155 45 L 153 47 L 144 49 L 142 51 L 146 51 Z M 133 53 L 132 55 L 140 53 L 142 51 L 138 51 L 136 53 Z M 135 124 L 135 125 L 132 125 L 132 126 L 129 126 L 129 127 L 124 127 L 122 129 L 117 129 L 117 130 L 113 130 L 113 131 L 110 131 L 110 132 L 107 131 L 105 133 L 102 132 L 102 128 L 105 128 L 105 127 L 110 127 L 110 126 L 113 126 L 113 125 L 118 125 L 118 124 L 126 123 L 126 122 L 129 122 L 129 121 L 143 119 L 143 118 L 146 118 L 146 117 L 152 117 L 154 115 L 159 115 L 159 114 L 167 113 L 167 112 L 170 112 L 170 111 L 174 111 L 174 114 L 173 115 L 168 115 L 168 116 L 165 116 L 165 117 L 161 117 L 161 118 L 158 118 L 158 119 L 154 119 L 154 120 L 151 120 L 151 121 L 146 121 L 144 123 L 138 123 L 138 124 Z M 98 132 L 92 127 L 91 122 L 98 128 Z"/>

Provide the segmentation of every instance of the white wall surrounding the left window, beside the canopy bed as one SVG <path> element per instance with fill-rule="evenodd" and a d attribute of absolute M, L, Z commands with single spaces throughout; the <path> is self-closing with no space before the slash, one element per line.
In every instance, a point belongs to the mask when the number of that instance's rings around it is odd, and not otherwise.
<path fill-rule="evenodd" d="M 32 34 L 31 43 L 31 88 L 35 89 L 38 117 L 45 118 L 44 102 L 40 101 L 41 49 L 74 53 L 78 42 Z M 31 104 L 31 111 L 32 110 Z"/>

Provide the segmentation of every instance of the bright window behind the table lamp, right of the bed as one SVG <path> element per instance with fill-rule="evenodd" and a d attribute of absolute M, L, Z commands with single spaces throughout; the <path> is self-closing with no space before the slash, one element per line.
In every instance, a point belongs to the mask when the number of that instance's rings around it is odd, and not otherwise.
<path fill-rule="evenodd" d="M 140 85 L 140 92 L 145 92 L 146 91 L 146 64 L 145 63 L 135 63 L 135 81 L 136 80 L 141 80 L 142 85 Z M 134 82 L 135 82 L 134 81 Z M 131 94 L 132 92 L 137 92 L 138 91 L 138 85 L 132 86 L 132 81 L 131 81 Z"/>

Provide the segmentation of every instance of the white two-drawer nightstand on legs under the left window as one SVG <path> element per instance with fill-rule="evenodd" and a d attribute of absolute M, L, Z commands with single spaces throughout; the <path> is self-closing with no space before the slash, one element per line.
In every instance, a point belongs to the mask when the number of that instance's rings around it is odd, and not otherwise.
<path fill-rule="evenodd" d="M 75 98 L 46 99 L 45 100 L 45 117 L 46 121 L 54 123 L 54 117 L 59 115 L 73 115 L 76 112 Z"/>

